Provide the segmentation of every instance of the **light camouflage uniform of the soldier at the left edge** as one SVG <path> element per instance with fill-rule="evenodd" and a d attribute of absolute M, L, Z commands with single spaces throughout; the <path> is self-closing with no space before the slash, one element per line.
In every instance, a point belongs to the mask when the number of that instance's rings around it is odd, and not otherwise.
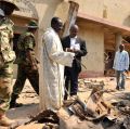
<path fill-rule="evenodd" d="M 3 18 L 0 22 L 0 114 L 8 111 L 12 93 L 13 61 L 15 53 L 11 50 L 13 22 Z"/>

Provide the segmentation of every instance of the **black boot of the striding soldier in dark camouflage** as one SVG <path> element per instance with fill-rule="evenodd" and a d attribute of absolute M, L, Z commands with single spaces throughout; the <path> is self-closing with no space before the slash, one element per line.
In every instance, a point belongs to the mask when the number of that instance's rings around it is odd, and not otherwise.
<path fill-rule="evenodd" d="M 17 98 L 18 98 L 17 94 L 12 94 L 12 96 L 11 96 L 11 102 L 10 102 L 10 108 L 20 107 L 20 106 L 23 105 L 22 103 L 16 103 L 16 99 L 17 99 Z"/>

